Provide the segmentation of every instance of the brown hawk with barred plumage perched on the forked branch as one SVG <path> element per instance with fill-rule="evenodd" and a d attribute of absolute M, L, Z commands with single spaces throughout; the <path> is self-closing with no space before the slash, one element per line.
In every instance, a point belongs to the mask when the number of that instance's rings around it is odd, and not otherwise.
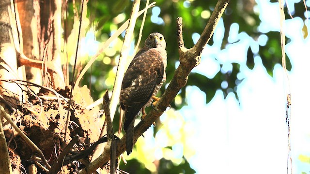
<path fill-rule="evenodd" d="M 155 95 L 166 81 L 167 52 L 162 34 L 151 33 L 144 46 L 132 59 L 124 78 L 120 93 L 120 106 L 124 110 L 124 131 L 126 132 L 126 152 L 133 149 L 134 123 L 140 111 L 150 106 Z"/>

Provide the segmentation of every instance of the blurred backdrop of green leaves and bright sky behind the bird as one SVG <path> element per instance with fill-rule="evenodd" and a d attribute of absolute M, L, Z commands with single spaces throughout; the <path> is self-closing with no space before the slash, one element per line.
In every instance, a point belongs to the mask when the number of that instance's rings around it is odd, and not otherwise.
<path fill-rule="evenodd" d="M 140 47 L 151 32 L 162 33 L 167 42 L 167 81 L 157 96 L 168 87 L 179 64 L 177 17 L 183 17 L 185 46 L 191 48 L 216 3 L 216 0 L 156 0 L 155 7 L 148 10 Z M 141 0 L 140 9 L 145 4 Z M 77 7 L 69 3 L 68 24 Z M 130 17 L 131 7 L 132 0 L 88 2 L 80 67 Z M 171 103 L 171 109 L 156 121 L 156 126 L 139 138 L 133 153 L 125 155 L 128 164 L 122 161 L 120 169 L 132 174 L 286 174 L 286 94 L 290 92 L 292 165 L 289 168 L 294 174 L 310 174 L 307 8 L 310 0 L 285 1 L 287 80 L 281 66 L 279 3 L 231 0 L 202 52 L 201 64 L 189 74 L 186 87 Z M 134 38 L 139 36 L 141 21 L 142 16 L 137 20 Z M 66 31 L 78 28 L 76 23 L 68 26 Z M 68 43 L 70 40 L 75 43 L 76 33 L 71 35 Z M 91 89 L 94 100 L 102 98 L 106 89 L 112 91 L 123 37 L 124 33 L 114 40 L 83 77 L 81 85 Z M 134 39 L 129 56 L 135 55 L 136 43 Z M 72 65 L 75 49 L 68 47 Z M 119 110 L 113 120 L 114 128 L 118 128 L 118 122 Z"/>

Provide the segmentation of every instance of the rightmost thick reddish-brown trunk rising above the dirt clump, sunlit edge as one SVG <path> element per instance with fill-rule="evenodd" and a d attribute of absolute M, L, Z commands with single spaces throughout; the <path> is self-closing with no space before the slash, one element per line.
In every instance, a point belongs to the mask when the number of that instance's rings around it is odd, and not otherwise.
<path fill-rule="evenodd" d="M 40 57 L 53 73 L 46 78 L 43 84 L 47 87 L 64 88 L 64 76 L 61 65 L 61 39 L 62 39 L 62 1 L 40 1 L 40 31 L 39 49 Z"/>

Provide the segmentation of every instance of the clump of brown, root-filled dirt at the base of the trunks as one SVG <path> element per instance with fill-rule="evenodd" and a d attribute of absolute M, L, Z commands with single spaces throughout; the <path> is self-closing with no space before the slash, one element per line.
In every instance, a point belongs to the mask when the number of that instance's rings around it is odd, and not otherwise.
<path fill-rule="evenodd" d="M 99 122 L 98 107 L 91 110 L 86 106 L 93 102 L 90 91 L 86 86 L 80 87 L 79 92 L 74 93 L 70 121 L 66 127 L 69 88 L 55 92 L 41 88 L 37 94 L 28 94 L 16 111 L 11 113 L 11 118 L 16 125 L 38 146 L 43 152 L 48 163 L 51 165 L 58 158 L 64 147 L 71 141 L 72 137 L 79 135 L 80 141 L 74 151 L 81 151 L 88 144 L 98 140 L 102 123 Z M 34 156 L 29 145 L 7 124 L 4 131 L 9 147 L 12 169 L 16 173 L 27 173 L 28 166 L 35 164 Z M 65 131 L 66 137 L 65 137 Z M 89 162 L 91 156 L 84 159 Z M 85 163 L 84 163 L 85 164 Z M 63 167 L 61 174 L 76 173 L 83 165 L 68 164 Z M 79 166 L 79 167 L 78 167 Z M 38 167 L 39 173 L 46 173 Z"/>

